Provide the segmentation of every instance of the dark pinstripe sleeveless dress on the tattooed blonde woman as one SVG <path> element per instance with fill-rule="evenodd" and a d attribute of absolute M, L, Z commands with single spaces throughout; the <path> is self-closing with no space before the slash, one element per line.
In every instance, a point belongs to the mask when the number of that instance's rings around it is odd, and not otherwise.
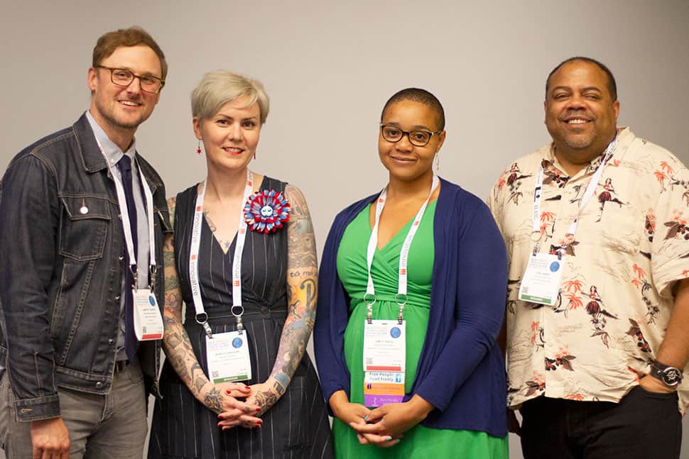
<path fill-rule="evenodd" d="M 283 192 L 286 183 L 264 177 L 261 189 Z M 185 329 L 195 355 L 207 373 L 205 332 L 194 319 L 189 283 L 189 250 L 196 186 L 177 196 L 175 260 L 186 307 Z M 199 248 L 199 282 L 213 333 L 237 329 L 232 304 L 234 245 L 223 253 L 203 219 Z M 246 233 L 242 256 L 244 328 L 249 336 L 253 377 L 264 382 L 276 360 L 287 316 L 287 231 Z M 222 431 L 217 415 L 198 402 L 173 367 L 161 374 L 162 401 L 156 403 L 148 458 L 332 458 L 330 425 L 318 377 L 304 355 L 286 393 L 262 416 L 261 428 Z"/>

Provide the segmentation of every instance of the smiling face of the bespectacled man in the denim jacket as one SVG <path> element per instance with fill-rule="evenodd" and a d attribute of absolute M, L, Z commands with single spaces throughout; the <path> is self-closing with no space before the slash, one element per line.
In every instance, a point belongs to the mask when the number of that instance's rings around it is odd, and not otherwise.
<path fill-rule="evenodd" d="M 162 77 L 161 61 L 156 52 L 146 45 L 116 48 L 99 65 L 130 70 L 138 75 Z M 89 69 L 88 86 L 92 92 L 89 111 L 115 142 L 118 136 L 134 136 L 136 128 L 151 116 L 160 99 L 160 93 L 141 91 L 138 78 L 134 78 L 126 87 L 114 84 L 110 70 L 103 68 Z"/>

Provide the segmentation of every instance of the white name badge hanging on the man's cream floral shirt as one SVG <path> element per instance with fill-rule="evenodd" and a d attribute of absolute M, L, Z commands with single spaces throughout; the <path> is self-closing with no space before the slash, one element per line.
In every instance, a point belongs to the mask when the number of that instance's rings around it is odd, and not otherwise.
<path fill-rule="evenodd" d="M 538 253 L 528 258 L 519 287 L 519 299 L 553 306 L 560 292 L 563 262 L 557 255 Z"/>

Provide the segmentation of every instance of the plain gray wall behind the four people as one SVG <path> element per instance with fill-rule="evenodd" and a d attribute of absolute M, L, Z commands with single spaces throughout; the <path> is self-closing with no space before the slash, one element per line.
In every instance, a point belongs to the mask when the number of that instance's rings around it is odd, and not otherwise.
<path fill-rule="evenodd" d="M 195 153 L 191 89 L 209 70 L 249 74 L 271 97 L 251 168 L 303 190 L 319 251 L 337 211 L 385 184 L 379 116 L 403 87 L 424 87 L 443 102 L 440 175 L 483 198 L 512 159 L 548 141 L 546 75 L 573 55 L 595 57 L 614 72 L 620 125 L 689 162 L 686 0 L 0 5 L 0 170 L 87 109 L 96 39 L 136 24 L 158 40 L 170 65 L 161 102 L 137 133 L 139 151 L 156 165 L 168 194 L 205 176 L 205 160 Z M 511 457 L 521 458 L 511 440 Z"/>

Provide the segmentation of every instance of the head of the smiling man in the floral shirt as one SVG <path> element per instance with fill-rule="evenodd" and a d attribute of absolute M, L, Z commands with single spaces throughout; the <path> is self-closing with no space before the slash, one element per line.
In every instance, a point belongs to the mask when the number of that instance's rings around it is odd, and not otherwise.
<path fill-rule="evenodd" d="M 553 73 L 543 105 L 555 155 L 565 167 L 583 167 L 615 136 L 619 102 L 612 100 L 605 72 L 592 62 L 575 60 Z"/>

